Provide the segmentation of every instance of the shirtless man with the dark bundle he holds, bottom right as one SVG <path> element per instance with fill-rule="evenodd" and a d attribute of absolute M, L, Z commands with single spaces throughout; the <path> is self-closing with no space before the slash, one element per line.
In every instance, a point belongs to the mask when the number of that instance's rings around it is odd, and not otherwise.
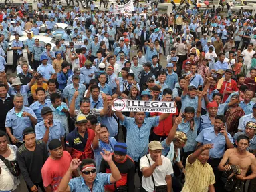
<path fill-rule="evenodd" d="M 225 187 L 231 187 L 231 191 L 239 188 L 243 191 L 245 181 L 256 178 L 256 159 L 247 151 L 250 140 L 246 135 L 239 135 L 235 141 L 237 148 L 227 149 L 223 159 L 219 163 L 219 170 L 224 171 L 227 177 Z M 247 175 L 251 168 L 252 173 Z M 247 176 L 246 176 L 247 175 Z"/>

